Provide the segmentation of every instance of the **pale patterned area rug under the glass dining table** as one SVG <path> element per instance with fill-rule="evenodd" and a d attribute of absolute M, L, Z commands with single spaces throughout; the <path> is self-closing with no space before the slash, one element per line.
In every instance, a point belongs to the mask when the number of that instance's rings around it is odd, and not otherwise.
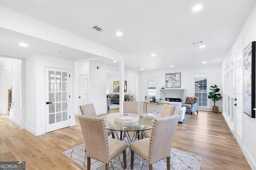
<path fill-rule="evenodd" d="M 85 146 L 84 144 L 69 149 L 67 151 L 62 152 L 68 158 L 74 160 L 74 162 L 78 163 L 84 168 L 87 168 L 87 157 L 84 152 Z M 126 149 L 126 161 L 127 161 L 127 170 L 130 170 L 130 149 L 127 147 Z M 138 157 L 134 154 L 134 170 L 148 170 L 148 162 L 142 160 L 142 164 L 140 164 Z M 190 154 L 187 152 L 182 152 L 180 150 L 172 149 L 171 151 L 171 169 L 172 170 L 199 170 L 201 164 L 201 156 L 196 156 L 194 154 Z M 123 164 L 123 156 L 119 154 L 114 162 L 110 162 L 109 169 L 110 170 L 122 170 Z M 104 163 L 91 159 L 91 169 L 92 170 L 104 170 Z M 154 170 L 166 170 L 166 159 L 160 160 L 153 164 Z"/>

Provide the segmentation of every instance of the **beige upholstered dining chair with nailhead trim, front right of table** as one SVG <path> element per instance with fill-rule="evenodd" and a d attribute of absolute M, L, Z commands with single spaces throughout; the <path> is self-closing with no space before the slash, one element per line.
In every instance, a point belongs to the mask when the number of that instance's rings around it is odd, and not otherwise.
<path fill-rule="evenodd" d="M 158 117 L 154 120 L 150 138 L 140 139 L 130 144 L 131 169 L 134 166 L 134 152 L 148 162 L 148 169 L 153 164 L 166 158 L 167 170 L 170 170 L 172 141 L 179 121 L 179 115 Z"/>

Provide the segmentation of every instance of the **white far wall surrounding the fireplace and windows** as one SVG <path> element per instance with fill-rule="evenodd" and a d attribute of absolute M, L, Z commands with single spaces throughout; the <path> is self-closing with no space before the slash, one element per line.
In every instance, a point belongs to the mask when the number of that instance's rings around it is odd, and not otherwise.
<path fill-rule="evenodd" d="M 139 96 L 138 100 L 145 100 L 145 96 L 147 94 L 147 76 L 156 76 L 156 99 L 160 98 L 160 88 L 162 86 L 165 87 L 165 75 L 168 73 L 181 73 L 181 89 L 186 89 L 186 96 L 194 96 L 194 73 L 197 72 L 208 72 L 208 84 L 210 85 L 216 84 L 220 88 L 220 93 L 222 94 L 222 72 L 221 72 L 221 64 L 216 65 L 205 65 L 200 67 L 187 67 L 187 68 L 171 68 L 166 70 L 154 70 L 154 71 L 145 71 L 140 72 L 140 81 L 139 81 Z M 209 90 L 209 89 L 208 89 Z M 223 95 L 222 95 L 223 96 Z M 200 110 L 208 110 L 210 111 L 214 103 L 208 99 L 210 102 L 209 108 L 199 108 Z M 222 102 L 217 102 L 217 106 L 219 106 L 219 111 L 222 110 Z"/>

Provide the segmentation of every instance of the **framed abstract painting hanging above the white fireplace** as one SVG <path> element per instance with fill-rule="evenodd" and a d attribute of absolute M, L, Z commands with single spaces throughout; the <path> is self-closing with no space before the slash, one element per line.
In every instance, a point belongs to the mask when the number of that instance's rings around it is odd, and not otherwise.
<path fill-rule="evenodd" d="M 165 74 L 166 88 L 180 88 L 180 72 Z"/>

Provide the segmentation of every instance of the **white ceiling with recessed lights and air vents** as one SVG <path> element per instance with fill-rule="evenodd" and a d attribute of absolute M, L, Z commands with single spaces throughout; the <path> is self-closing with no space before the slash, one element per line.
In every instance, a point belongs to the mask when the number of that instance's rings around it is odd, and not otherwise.
<path fill-rule="evenodd" d="M 0 0 L 0 4 L 120 51 L 125 68 L 140 71 L 221 63 L 256 0 Z M 193 12 L 197 4 L 203 8 Z M 104 31 L 92 29 L 94 25 Z M 116 36 L 116 31 L 123 35 Z M 39 53 L 72 61 L 95 57 L 3 28 L 0 37 L 0 55 Z M 14 45 L 16 41 L 32 46 L 24 49 Z M 206 47 L 192 45 L 195 41 Z"/>

